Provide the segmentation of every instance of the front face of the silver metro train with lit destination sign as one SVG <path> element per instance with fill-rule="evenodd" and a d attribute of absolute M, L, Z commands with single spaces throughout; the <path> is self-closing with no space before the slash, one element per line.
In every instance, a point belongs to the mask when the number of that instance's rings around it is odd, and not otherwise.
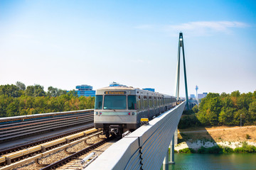
<path fill-rule="evenodd" d="M 136 89 L 126 86 L 111 86 L 97 89 L 95 98 L 95 128 L 104 134 L 122 135 L 127 130 L 138 128 Z"/>

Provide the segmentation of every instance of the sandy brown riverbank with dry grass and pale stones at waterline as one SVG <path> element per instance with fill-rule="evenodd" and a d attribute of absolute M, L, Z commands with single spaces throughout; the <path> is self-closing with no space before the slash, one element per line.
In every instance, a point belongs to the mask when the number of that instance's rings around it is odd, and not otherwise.
<path fill-rule="evenodd" d="M 256 126 L 247 127 L 213 127 L 178 130 L 178 145 L 174 149 L 179 151 L 185 148 L 198 150 L 201 147 L 215 146 L 242 147 L 243 144 L 256 147 Z"/>

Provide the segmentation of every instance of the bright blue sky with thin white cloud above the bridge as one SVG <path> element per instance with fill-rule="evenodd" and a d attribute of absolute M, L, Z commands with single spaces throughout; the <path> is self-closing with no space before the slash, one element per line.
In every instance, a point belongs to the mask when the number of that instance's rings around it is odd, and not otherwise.
<path fill-rule="evenodd" d="M 255 1 L 0 1 L 0 84 L 256 90 Z M 181 72 L 183 74 L 183 72 Z M 181 96 L 184 96 L 183 76 Z"/>

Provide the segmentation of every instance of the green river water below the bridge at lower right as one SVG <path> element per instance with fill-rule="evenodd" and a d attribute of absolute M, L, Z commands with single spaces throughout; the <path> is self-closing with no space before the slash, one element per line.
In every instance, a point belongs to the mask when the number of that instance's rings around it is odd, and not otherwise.
<path fill-rule="evenodd" d="M 256 169 L 256 154 L 174 154 L 174 161 L 169 170 Z"/>

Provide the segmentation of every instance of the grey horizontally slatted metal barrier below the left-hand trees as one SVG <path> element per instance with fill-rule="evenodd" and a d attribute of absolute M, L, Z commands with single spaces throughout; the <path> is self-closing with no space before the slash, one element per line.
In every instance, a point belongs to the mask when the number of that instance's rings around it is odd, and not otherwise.
<path fill-rule="evenodd" d="M 92 109 L 0 118 L 0 142 L 92 122 Z"/>

